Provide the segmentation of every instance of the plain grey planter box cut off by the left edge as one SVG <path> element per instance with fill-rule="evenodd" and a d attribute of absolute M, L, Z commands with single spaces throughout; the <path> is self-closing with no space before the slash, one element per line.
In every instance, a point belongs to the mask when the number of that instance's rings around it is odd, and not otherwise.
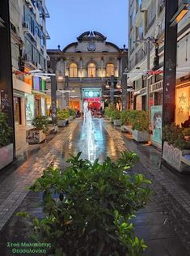
<path fill-rule="evenodd" d="M 13 161 L 13 144 L 0 147 L 0 169 Z"/>

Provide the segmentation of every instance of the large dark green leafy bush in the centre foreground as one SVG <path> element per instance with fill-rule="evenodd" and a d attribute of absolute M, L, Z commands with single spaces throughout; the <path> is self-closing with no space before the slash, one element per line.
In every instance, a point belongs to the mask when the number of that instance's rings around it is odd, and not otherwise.
<path fill-rule="evenodd" d="M 30 188 L 43 192 L 43 220 L 32 219 L 35 241 L 52 243 L 53 255 L 140 255 L 146 249 L 134 236 L 131 219 L 150 196 L 150 181 L 129 174 L 135 153 L 99 164 L 71 156 L 64 172 L 49 168 Z M 28 217 L 25 212 L 18 215 Z"/>

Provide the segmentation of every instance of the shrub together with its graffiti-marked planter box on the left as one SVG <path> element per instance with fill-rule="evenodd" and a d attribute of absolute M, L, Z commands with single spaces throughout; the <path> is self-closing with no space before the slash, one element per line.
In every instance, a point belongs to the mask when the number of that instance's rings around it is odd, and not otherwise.
<path fill-rule="evenodd" d="M 38 144 L 46 139 L 49 119 L 46 116 L 37 116 L 32 121 L 34 128 L 26 130 L 27 143 Z"/>

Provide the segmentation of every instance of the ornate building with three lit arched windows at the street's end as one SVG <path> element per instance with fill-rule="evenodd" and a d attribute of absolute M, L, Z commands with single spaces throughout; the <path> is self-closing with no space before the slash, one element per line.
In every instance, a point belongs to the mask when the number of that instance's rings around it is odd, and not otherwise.
<path fill-rule="evenodd" d="M 84 32 L 64 49 L 49 49 L 49 68 L 57 75 L 57 99 L 60 108 L 82 110 L 84 100 L 99 109 L 121 96 L 127 50 L 108 42 L 99 32 Z M 112 83 L 112 84 L 111 84 Z M 126 86 L 126 84 L 125 84 Z"/>

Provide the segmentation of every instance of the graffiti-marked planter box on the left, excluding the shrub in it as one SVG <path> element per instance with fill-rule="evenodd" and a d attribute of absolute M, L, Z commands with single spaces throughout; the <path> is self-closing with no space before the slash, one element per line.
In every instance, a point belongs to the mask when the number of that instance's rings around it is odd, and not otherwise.
<path fill-rule="evenodd" d="M 46 139 L 43 130 L 26 130 L 26 141 L 30 144 L 38 144 Z"/>

